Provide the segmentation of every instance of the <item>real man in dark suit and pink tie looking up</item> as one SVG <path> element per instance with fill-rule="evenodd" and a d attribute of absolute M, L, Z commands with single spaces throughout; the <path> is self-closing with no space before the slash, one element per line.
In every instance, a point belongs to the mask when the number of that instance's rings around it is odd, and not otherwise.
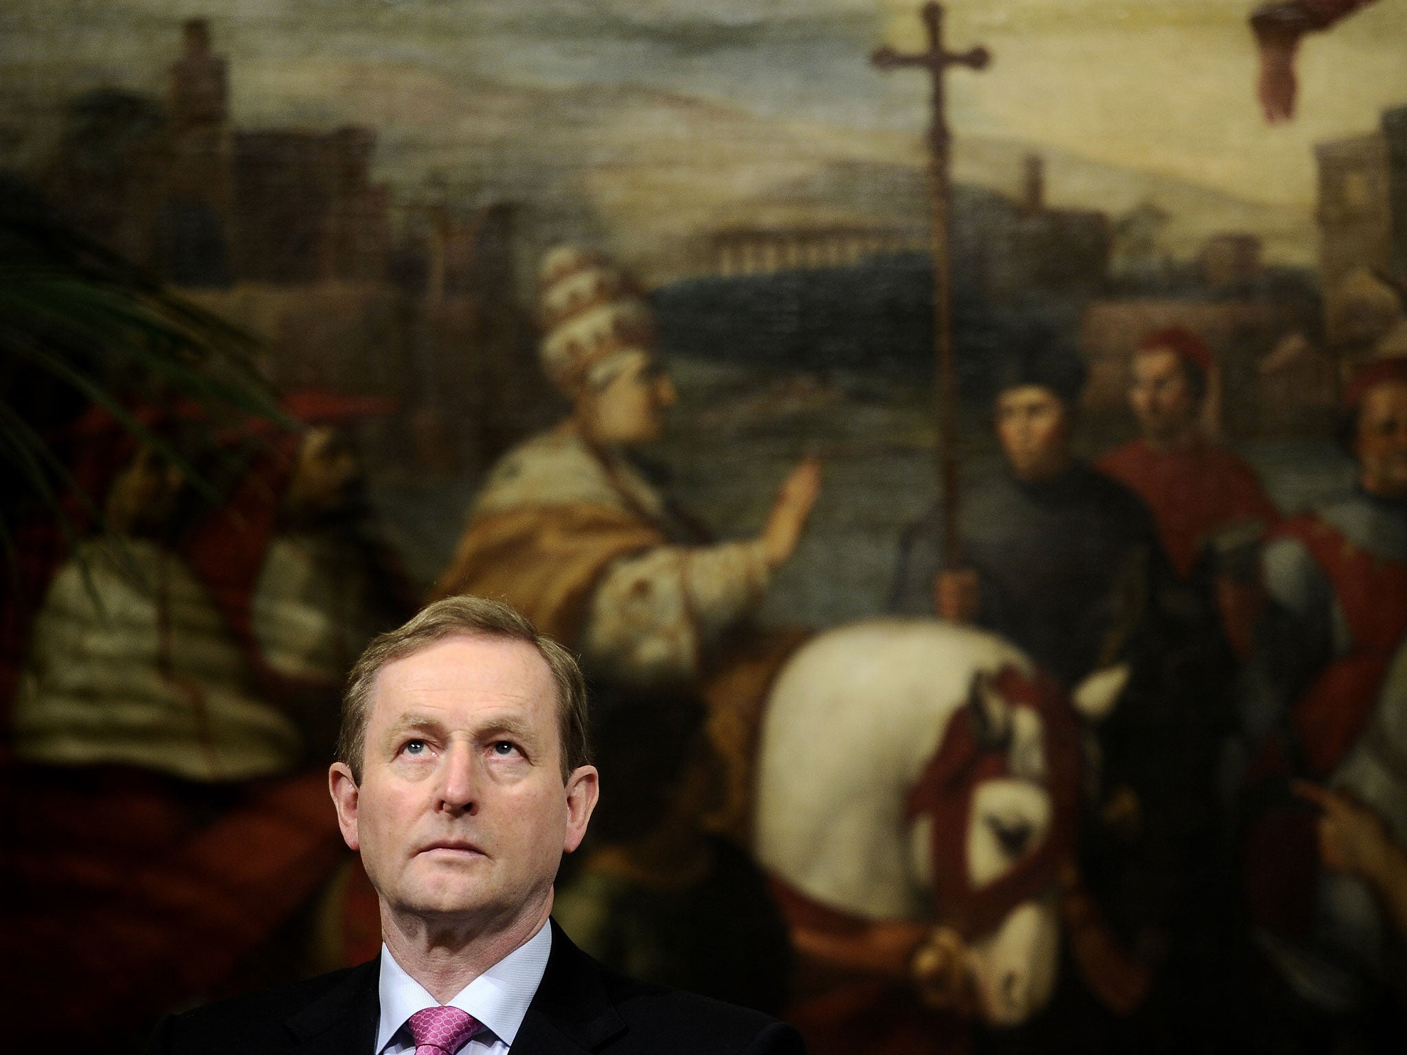
<path fill-rule="evenodd" d="M 152 1052 L 802 1052 L 767 1016 L 602 969 L 550 921 L 598 776 L 571 656 L 447 598 L 349 679 L 332 800 L 381 907 L 377 959 L 166 1018 Z"/>

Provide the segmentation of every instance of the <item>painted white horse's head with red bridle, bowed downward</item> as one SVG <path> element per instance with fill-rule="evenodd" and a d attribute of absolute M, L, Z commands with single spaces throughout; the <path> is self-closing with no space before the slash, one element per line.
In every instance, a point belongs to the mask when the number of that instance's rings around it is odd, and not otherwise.
<path fill-rule="evenodd" d="M 1057 869 L 1074 850 L 1078 731 L 1061 691 L 1013 667 L 974 675 L 909 796 L 916 867 L 962 935 L 982 1016 L 1013 1025 L 1055 985 Z"/>

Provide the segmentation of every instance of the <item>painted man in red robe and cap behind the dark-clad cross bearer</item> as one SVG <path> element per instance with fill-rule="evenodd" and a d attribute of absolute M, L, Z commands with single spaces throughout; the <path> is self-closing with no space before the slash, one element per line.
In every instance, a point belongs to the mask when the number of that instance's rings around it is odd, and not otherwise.
<path fill-rule="evenodd" d="M 1144 338 L 1134 353 L 1128 388 L 1142 435 L 1104 454 L 1099 470 L 1144 499 L 1183 581 L 1199 571 L 1214 577 L 1210 592 L 1227 636 L 1244 654 L 1258 592 L 1247 581 L 1254 577 L 1235 574 L 1234 558 L 1251 551 L 1280 516 L 1255 470 L 1202 432 L 1211 366 L 1211 350 L 1182 326 Z"/>

